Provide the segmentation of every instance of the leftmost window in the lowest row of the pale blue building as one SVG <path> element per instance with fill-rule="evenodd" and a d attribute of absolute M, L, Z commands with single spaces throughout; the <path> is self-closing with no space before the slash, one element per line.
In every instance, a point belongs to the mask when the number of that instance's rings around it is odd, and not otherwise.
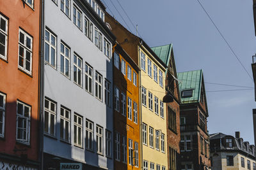
<path fill-rule="evenodd" d="M 44 132 L 55 136 L 55 125 L 56 125 L 56 103 L 45 99 L 44 102 Z"/>

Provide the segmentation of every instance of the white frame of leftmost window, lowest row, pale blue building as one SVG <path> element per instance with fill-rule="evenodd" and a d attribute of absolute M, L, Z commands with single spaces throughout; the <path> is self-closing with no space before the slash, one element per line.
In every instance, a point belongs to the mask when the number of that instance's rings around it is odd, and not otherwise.
<path fill-rule="evenodd" d="M 49 99 L 45 99 L 45 103 L 48 103 L 48 107 L 46 106 L 47 104 L 44 104 L 44 121 L 46 121 L 46 112 L 48 113 L 48 120 L 47 120 L 47 127 L 45 126 L 45 122 L 44 122 L 44 133 L 51 135 L 51 136 L 56 136 L 56 103 L 54 103 L 53 101 L 49 100 Z M 52 120 L 51 120 L 51 117 Z M 53 127 L 53 134 L 51 133 L 51 124 Z M 45 131 L 47 129 L 47 131 Z"/>

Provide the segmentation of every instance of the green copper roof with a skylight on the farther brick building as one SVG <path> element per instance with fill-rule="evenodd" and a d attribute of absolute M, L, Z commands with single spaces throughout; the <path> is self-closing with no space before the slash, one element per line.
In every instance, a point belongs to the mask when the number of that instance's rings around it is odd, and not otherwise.
<path fill-rule="evenodd" d="M 200 101 L 200 92 L 202 86 L 202 75 L 203 71 L 195 70 L 195 71 L 186 71 L 182 73 L 178 73 L 178 80 L 181 81 L 179 83 L 180 89 L 180 97 L 181 103 L 198 103 Z M 183 90 L 193 89 L 193 94 L 191 97 L 182 97 Z"/>

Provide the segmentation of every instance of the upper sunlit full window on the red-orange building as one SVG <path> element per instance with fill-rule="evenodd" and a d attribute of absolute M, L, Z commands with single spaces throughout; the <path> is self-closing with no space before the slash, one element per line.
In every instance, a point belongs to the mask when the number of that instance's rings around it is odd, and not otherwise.
<path fill-rule="evenodd" d="M 29 74 L 32 74 L 32 49 L 33 38 L 19 29 L 19 68 Z"/>

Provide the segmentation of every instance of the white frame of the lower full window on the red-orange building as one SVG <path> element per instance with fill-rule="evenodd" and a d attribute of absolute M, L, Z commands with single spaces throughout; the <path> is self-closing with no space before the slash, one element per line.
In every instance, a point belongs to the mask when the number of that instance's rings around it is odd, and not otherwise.
<path fill-rule="evenodd" d="M 22 113 L 19 114 L 19 104 L 22 106 Z M 25 115 L 25 108 L 28 108 L 28 117 Z M 22 103 L 21 101 L 17 101 L 17 118 L 16 118 L 16 141 L 19 141 L 20 143 L 24 143 L 26 145 L 29 145 L 30 143 L 30 122 L 31 122 L 31 106 L 28 106 L 28 104 Z M 24 120 L 22 123 L 22 127 L 19 127 L 19 118 Z M 26 122 L 26 127 L 24 128 L 24 123 Z M 19 129 L 22 131 L 22 133 L 26 132 L 25 138 L 19 138 Z M 24 135 L 23 135 L 24 137 Z"/>

